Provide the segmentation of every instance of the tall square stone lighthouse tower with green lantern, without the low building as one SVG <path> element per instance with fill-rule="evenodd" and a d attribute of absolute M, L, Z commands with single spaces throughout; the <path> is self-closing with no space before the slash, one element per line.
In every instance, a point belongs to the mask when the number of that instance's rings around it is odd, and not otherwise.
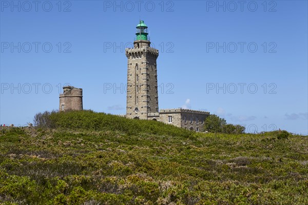
<path fill-rule="evenodd" d="M 126 117 L 158 119 L 158 50 L 150 47 L 148 27 L 143 20 L 140 20 L 136 28 L 134 47 L 125 49 L 128 59 Z"/>

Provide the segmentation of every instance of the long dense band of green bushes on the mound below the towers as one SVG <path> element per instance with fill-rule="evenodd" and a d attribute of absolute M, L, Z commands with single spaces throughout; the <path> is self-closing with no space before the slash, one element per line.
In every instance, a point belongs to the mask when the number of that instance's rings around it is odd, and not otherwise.
<path fill-rule="evenodd" d="M 134 120 L 125 117 L 97 113 L 91 110 L 44 112 L 34 117 L 38 127 L 86 129 L 93 131 L 119 131 L 128 135 L 140 133 L 189 137 L 194 132 L 166 125 L 153 120 Z"/>

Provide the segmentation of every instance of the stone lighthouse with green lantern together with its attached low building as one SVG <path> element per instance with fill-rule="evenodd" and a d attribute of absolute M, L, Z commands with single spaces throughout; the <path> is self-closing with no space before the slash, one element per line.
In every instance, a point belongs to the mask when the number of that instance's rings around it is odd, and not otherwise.
<path fill-rule="evenodd" d="M 197 132 L 209 112 L 188 109 L 158 108 L 157 58 L 159 51 L 150 46 L 147 26 L 143 20 L 137 25 L 133 48 L 125 49 L 127 57 L 126 117 L 158 120 L 166 124 Z"/>

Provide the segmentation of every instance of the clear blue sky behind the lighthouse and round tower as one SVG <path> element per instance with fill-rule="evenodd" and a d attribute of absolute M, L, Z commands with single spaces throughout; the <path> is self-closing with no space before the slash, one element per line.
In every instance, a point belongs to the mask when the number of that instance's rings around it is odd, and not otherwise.
<path fill-rule="evenodd" d="M 139 19 L 159 49 L 159 107 L 206 110 L 247 132 L 308 134 L 307 1 L 0 1 L 0 124 L 58 109 L 125 114 Z"/>

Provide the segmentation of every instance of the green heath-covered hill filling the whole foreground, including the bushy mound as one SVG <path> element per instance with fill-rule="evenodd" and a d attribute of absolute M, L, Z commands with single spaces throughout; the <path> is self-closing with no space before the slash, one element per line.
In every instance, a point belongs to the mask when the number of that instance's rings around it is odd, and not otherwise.
<path fill-rule="evenodd" d="M 308 137 L 201 134 L 91 111 L 0 130 L 4 204 L 308 204 Z"/>

